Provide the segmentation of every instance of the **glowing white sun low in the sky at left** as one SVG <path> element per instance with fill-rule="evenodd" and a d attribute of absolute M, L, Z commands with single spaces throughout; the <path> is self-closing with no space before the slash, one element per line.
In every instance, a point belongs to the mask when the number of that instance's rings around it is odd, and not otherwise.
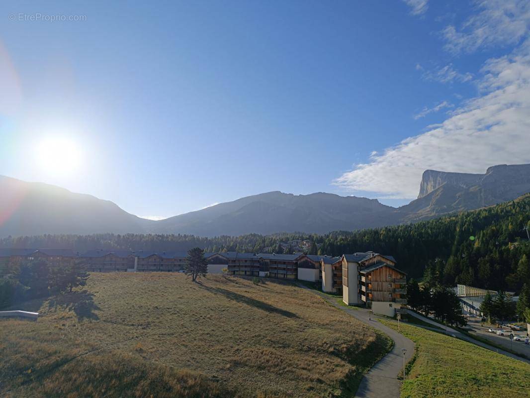
<path fill-rule="evenodd" d="M 72 174 L 81 163 L 81 151 L 68 137 L 48 137 L 36 148 L 37 166 L 49 175 Z"/>

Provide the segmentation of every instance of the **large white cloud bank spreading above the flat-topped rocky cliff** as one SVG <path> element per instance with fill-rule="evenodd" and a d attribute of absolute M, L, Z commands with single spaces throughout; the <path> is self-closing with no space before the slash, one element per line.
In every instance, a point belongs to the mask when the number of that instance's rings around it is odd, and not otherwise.
<path fill-rule="evenodd" d="M 489 59 L 481 93 L 425 134 L 356 165 L 334 183 L 350 191 L 414 198 L 426 169 L 483 173 L 492 165 L 530 162 L 530 39 L 509 56 Z"/>

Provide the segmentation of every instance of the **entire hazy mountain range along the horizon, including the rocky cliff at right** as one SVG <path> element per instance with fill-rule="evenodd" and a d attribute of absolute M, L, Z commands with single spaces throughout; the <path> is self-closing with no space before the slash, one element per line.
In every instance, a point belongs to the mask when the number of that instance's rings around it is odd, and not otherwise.
<path fill-rule="evenodd" d="M 395 208 L 376 199 L 329 193 L 268 192 L 152 221 L 110 201 L 53 185 L 0 176 L 0 237 L 43 233 L 187 233 L 199 236 L 326 233 L 409 223 L 478 209 L 530 192 L 530 165 L 499 165 L 485 174 L 426 170 L 419 195 Z"/>

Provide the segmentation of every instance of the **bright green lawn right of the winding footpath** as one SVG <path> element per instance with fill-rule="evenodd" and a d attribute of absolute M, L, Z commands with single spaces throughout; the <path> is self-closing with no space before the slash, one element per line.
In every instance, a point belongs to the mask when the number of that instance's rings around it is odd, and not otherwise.
<path fill-rule="evenodd" d="M 394 322 L 381 320 L 397 330 Z M 477 345 L 401 324 L 416 343 L 416 358 L 401 390 L 402 398 L 527 396 L 530 365 Z"/>

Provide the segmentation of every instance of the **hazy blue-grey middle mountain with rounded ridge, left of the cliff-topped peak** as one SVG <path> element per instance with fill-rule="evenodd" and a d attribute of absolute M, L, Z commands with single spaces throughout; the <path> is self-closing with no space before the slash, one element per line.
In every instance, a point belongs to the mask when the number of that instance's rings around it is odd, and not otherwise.
<path fill-rule="evenodd" d="M 293 195 L 269 192 L 221 203 L 154 224 L 158 233 L 199 236 L 352 230 L 396 223 L 394 208 L 377 200 L 328 193 Z"/>

